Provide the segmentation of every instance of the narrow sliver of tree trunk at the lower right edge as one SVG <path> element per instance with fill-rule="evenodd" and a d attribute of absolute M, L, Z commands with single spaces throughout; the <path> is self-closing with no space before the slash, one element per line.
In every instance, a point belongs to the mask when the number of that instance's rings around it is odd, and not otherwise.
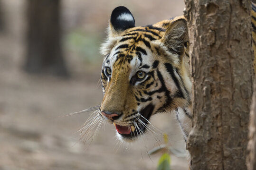
<path fill-rule="evenodd" d="M 254 80 L 254 94 L 250 111 L 249 142 L 247 149 L 247 169 L 256 170 L 256 78 Z"/>

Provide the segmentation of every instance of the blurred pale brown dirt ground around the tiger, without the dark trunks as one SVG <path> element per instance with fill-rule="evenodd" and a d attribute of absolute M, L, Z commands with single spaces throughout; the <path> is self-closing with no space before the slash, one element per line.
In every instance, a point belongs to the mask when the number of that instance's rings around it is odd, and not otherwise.
<path fill-rule="evenodd" d="M 69 79 L 28 75 L 22 69 L 26 55 L 26 1 L 1 2 L 6 29 L 0 34 L 0 170 L 155 170 L 160 154 L 147 154 L 158 145 L 151 134 L 134 144 L 120 145 L 114 126 L 106 125 L 90 145 L 79 141 L 76 131 L 91 112 L 61 116 L 100 104 L 103 96 L 98 81 L 102 60 L 88 64 L 76 51 L 65 48 L 71 72 Z M 111 10 L 122 3 L 137 11 L 138 25 L 182 15 L 184 4 L 181 1 L 162 1 L 165 2 L 166 5 L 156 4 L 153 0 L 131 0 L 129 3 L 124 0 L 111 3 L 64 0 L 64 32 L 68 34 L 77 26 L 83 30 L 100 27 L 98 30 L 102 31 L 108 20 L 104 17 L 108 18 Z M 156 7 L 157 15 L 152 12 Z M 144 16 L 140 8 L 145 9 Z M 171 11 L 170 15 L 167 9 Z M 91 22 L 95 19 L 96 23 Z M 168 134 L 173 148 L 185 152 L 173 115 L 157 115 L 151 121 L 161 132 Z M 187 170 L 186 158 L 172 154 L 171 168 Z"/>

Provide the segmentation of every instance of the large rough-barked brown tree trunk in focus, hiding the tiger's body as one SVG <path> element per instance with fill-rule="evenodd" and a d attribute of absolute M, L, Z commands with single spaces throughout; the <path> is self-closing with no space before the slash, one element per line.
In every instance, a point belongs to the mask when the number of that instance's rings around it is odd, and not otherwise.
<path fill-rule="evenodd" d="M 246 170 L 253 83 L 249 0 L 185 0 L 193 82 L 192 170 Z"/>

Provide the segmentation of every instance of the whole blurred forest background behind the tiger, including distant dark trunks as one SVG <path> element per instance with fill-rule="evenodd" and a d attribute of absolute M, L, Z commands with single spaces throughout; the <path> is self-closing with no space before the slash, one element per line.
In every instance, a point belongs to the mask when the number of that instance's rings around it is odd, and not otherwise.
<path fill-rule="evenodd" d="M 180 16 L 182 0 L 0 0 L 0 170 L 155 170 L 161 144 L 147 134 L 119 144 L 113 125 L 88 144 L 79 127 L 92 114 L 61 117 L 97 106 L 106 36 L 112 10 L 131 10 L 136 26 Z M 170 113 L 152 124 L 185 151 Z M 185 157 L 171 155 L 173 170 L 187 170 Z"/>

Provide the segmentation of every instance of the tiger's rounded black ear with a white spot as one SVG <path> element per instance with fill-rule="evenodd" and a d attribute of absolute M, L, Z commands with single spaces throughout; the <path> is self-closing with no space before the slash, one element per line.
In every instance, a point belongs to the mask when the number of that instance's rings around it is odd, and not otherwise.
<path fill-rule="evenodd" d="M 119 32 L 134 27 L 135 20 L 129 9 L 120 6 L 114 8 L 112 11 L 110 24 L 113 26 L 115 31 Z"/>

